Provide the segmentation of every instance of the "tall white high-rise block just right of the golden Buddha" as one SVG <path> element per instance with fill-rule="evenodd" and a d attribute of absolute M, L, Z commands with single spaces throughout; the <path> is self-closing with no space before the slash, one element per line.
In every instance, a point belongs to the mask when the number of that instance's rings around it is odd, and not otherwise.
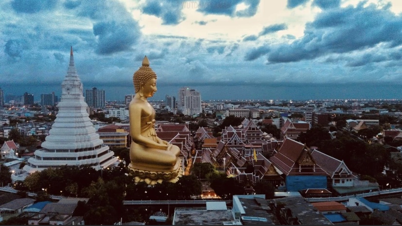
<path fill-rule="evenodd" d="M 192 115 L 202 112 L 200 92 L 182 87 L 177 92 L 177 109 L 183 114 Z"/>

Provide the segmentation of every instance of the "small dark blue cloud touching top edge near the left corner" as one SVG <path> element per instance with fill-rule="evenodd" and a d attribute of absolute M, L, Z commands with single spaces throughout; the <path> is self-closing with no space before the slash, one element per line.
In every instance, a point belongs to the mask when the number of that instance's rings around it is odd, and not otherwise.
<path fill-rule="evenodd" d="M 15 12 L 28 14 L 52 10 L 56 4 L 57 0 L 13 0 L 11 2 Z"/>

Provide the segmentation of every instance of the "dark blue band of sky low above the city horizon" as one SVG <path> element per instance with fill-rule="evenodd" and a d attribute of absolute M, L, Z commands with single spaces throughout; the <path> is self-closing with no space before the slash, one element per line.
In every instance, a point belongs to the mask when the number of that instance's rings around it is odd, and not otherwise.
<path fill-rule="evenodd" d="M 88 88 L 86 88 L 88 87 Z M 97 86 L 84 83 L 86 89 L 96 87 L 105 90 L 106 101 L 122 101 L 125 95 L 134 94 L 131 84 L 125 86 Z M 149 100 L 164 100 L 165 95 L 177 97 L 177 91 L 182 85 L 157 85 L 157 93 Z M 201 93 L 201 100 L 325 100 L 325 99 L 402 99 L 400 85 L 398 84 L 280 84 L 278 86 L 267 84 L 247 85 L 201 85 L 189 86 Z M 8 85 L 3 88 L 4 98 L 8 95 L 22 96 L 25 92 L 34 94 L 35 102 L 40 101 L 40 94 L 50 94 L 61 97 L 61 81 L 58 85 L 29 84 Z M 11 88 L 11 89 L 10 89 Z M 239 92 L 239 90 L 241 92 Z"/>

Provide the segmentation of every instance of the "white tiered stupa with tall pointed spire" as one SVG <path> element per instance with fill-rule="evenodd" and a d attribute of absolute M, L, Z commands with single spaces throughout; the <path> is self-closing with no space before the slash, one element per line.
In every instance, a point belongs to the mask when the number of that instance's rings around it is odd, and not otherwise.
<path fill-rule="evenodd" d="M 109 146 L 95 133 L 87 103 L 84 101 L 83 85 L 74 66 L 72 47 L 70 65 L 61 84 L 62 94 L 58 113 L 42 148 L 28 160 L 24 170 L 33 173 L 48 167 L 63 165 L 90 166 L 96 170 L 106 168 L 118 161 Z"/>

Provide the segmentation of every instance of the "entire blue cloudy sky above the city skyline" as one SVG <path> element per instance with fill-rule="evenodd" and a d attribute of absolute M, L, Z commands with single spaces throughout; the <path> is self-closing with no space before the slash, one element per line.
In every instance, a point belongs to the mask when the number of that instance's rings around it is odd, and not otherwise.
<path fill-rule="evenodd" d="M 0 88 L 61 93 L 70 46 L 84 89 L 154 99 L 402 98 L 401 0 L 1 0 Z"/>

